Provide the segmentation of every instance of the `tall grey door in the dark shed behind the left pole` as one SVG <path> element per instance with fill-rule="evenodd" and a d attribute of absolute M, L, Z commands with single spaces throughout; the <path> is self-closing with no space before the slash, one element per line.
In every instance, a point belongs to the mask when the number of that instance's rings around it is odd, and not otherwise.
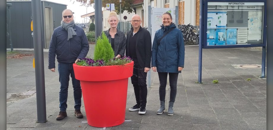
<path fill-rule="evenodd" d="M 49 48 L 53 33 L 52 8 L 45 7 L 45 48 Z"/>

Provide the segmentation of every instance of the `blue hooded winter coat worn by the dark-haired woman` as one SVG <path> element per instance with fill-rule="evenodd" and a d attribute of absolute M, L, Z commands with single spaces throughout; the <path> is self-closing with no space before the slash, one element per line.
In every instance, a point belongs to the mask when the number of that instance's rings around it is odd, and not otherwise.
<path fill-rule="evenodd" d="M 158 46 L 158 40 L 171 28 Z M 185 45 L 182 32 L 172 23 L 170 26 L 161 26 L 155 32 L 152 47 L 152 67 L 156 67 L 157 72 L 181 73 L 178 67 L 184 67 Z"/>

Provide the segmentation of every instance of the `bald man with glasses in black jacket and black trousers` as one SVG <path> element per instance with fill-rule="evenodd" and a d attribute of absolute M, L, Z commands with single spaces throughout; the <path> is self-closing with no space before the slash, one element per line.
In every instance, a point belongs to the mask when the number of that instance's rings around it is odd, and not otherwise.
<path fill-rule="evenodd" d="M 131 18 L 132 28 L 127 32 L 126 56 L 130 56 L 134 61 L 133 76 L 131 82 L 134 86 L 136 105 L 129 108 L 129 111 L 139 110 L 139 114 L 146 113 L 147 103 L 147 72 L 151 68 L 152 41 L 151 34 L 143 29 L 141 18 L 134 15 Z"/>

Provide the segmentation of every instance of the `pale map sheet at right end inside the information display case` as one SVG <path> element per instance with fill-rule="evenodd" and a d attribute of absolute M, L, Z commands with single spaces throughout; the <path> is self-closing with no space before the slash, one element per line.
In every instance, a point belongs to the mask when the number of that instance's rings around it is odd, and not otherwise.
<path fill-rule="evenodd" d="M 262 36 L 262 12 L 248 12 L 248 40 L 260 40 Z"/>

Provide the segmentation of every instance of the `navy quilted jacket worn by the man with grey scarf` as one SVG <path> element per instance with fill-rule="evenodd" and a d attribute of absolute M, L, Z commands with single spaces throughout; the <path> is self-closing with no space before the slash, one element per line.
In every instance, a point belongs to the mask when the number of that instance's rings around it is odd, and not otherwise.
<path fill-rule="evenodd" d="M 85 32 L 79 26 L 74 25 L 77 35 L 67 40 L 68 32 L 59 26 L 53 31 L 49 52 L 48 69 L 55 68 L 55 56 L 60 63 L 74 63 L 77 58 L 85 58 L 89 51 L 89 44 Z"/>

